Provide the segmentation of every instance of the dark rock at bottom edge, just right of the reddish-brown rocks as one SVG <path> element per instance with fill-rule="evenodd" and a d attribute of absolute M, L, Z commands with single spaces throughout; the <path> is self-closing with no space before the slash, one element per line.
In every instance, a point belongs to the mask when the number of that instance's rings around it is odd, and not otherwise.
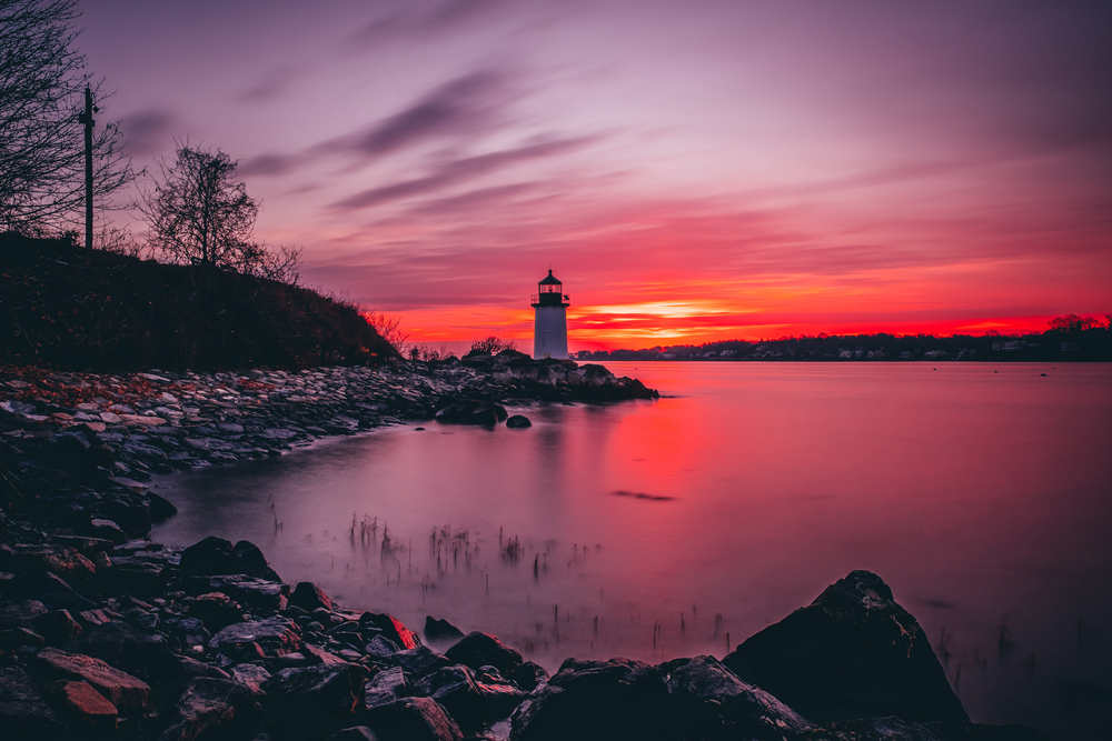
<path fill-rule="evenodd" d="M 258 731 L 262 710 L 242 684 L 227 679 L 192 679 L 186 683 L 159 741 L 248 739 Z"/>

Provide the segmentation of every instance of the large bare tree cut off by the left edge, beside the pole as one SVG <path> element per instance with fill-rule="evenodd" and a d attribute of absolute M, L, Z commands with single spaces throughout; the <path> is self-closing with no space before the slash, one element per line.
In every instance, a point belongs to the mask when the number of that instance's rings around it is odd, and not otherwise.
<path fill-rule="evenodd" d="M 86 86 L 73 42 L 76 0 L 0 0 L 0 227 L 24 232 L 81 223 L 85 199 Z M 92 140 L 93 196 L 101 207 L 135 180 L 118 123 Z"/>

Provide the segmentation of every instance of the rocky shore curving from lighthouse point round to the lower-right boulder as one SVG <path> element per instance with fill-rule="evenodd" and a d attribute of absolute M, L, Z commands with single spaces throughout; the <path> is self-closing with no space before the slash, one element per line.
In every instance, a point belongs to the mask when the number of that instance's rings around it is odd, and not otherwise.
<path fill-rule="evenodd" d="M 148 540 L 173 514 L 151 473 L 404 421 L 496 424 L 505 405 L 654 395 L 513 352 L 300 373 L 0 369 L 0 735 L 1044 738 L 969 722 L 915 619 L 864 571 L 721 661 L 568 659 L 549 677 L 494 635 L 431 615 L 418 633 L 286 584 L 249 542 Z"/>

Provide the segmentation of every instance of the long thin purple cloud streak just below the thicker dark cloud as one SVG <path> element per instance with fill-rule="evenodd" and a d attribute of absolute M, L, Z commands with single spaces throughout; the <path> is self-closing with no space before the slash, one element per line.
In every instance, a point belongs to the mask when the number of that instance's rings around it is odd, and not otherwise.
<path fill-rule="evenodd" d="M 355 211 L 373 206 L 380 206 L 390 201 L 397 201 L 415 196 L 435 192 L 471 180 L 498 170 L 512 167 L 528 160 L 543 159 L 564 154 L 568 151 L 579 149 L 592 142 L 594 138 L 580 137 L 576 139 L 556 139 L 534 144 L 526 144 L 516 149 L 506 149 L 487 154 L 465 157 L 453 160 L 440 166 L 431 174 L 424 178 L 403 180 L 389 186 L 370 188 L 349 198 L 345 198 L 331 204 L 337 211 Z"/>

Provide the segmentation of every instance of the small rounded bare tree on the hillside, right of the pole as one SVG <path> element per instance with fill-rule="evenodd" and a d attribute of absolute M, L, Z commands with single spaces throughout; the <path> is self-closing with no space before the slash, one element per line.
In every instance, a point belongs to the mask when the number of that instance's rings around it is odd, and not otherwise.
<path fill-rule="evenodd" d="M 260 202 L 235 179 L 238 162 L 219 149 L 177 144 L 172 162 L 158 161 L 160 182 L 135 203 L 147 222 L 151 248 L 179 263 L 296 283 L 300 248 L 252 240 Z"/>

